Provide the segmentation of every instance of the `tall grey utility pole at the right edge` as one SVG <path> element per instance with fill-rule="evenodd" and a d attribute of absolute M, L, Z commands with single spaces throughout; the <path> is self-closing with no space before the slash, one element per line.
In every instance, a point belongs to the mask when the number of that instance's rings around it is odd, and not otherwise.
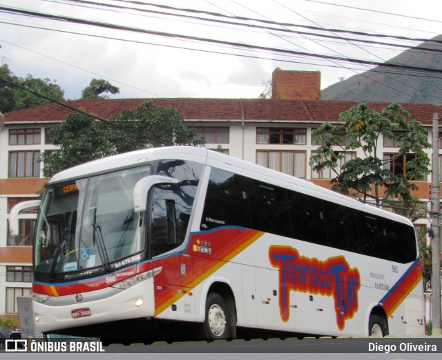
<path fill-rule="evenodd" d="M 441 336 L 441 205 L 439 190 L 439 114 L 433 114 L 432 131 L 432 335 Z"/>

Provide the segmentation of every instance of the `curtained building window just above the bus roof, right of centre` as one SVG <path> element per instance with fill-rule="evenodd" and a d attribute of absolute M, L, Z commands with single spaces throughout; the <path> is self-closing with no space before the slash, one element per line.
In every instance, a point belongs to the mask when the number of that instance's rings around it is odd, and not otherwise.
<path fill-rule="evenodd" d="M 256 163 L 260 166 L 305 178 L 306 152 L 289 150 L 257 150 Z"/>

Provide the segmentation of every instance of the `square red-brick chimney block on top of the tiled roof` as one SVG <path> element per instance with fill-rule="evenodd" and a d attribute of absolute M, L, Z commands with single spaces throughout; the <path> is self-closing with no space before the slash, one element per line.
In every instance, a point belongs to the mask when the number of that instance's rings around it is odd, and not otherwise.
<path fill-rule="evenodd" d="M 319 71 L 285 71 L 272 74 L 272 99 L 320 100 Z"/>

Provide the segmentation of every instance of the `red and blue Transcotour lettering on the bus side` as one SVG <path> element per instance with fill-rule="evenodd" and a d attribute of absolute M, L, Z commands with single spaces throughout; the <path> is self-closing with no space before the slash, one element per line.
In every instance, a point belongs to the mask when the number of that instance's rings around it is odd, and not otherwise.
<path fill-rule="evenodd" d="M 358 311 L 358 290 L 361 281 L 357 268 L 351 269 L 345 257 L 325 261 L 299 255 L 291 246 L 271 246 L 271 265 L 279 270 L 279 306 L 282 321 L 290 317 L 289 292 L 311 292 L 334 297 L 336 323 L 343 330 L 345 320 Z"/>

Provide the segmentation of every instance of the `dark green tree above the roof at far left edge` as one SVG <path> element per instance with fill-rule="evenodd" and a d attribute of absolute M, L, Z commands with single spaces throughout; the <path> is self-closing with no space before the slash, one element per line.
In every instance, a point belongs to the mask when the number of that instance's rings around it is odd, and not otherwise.
<path fill-rule="evenodd" d="M 35 78 L 31 74 L 22 79 L 10 71 L 8 64 L 3 64 L 0 67 L 0 111 L 9 112 L 32 108 L 50 103 L 51 100 L 63 101 L 64 91 L 55 82 L 50 79 Z M 37 94 L 28 90 L 37 92 Z M 51 100 L 39 97 L 38 94 Z"/>

